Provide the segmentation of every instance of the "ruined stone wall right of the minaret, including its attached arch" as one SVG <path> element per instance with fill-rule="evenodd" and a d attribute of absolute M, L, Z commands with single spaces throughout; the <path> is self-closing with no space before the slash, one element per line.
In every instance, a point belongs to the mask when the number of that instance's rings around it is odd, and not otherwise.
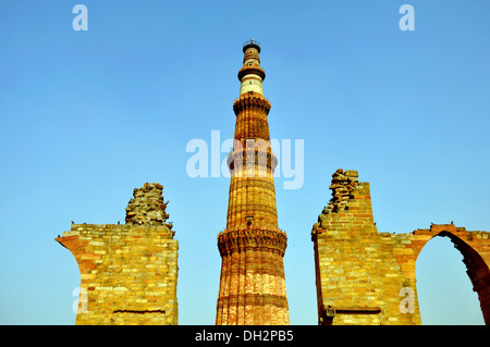
<path fill-rule="evenodd" d="M 421 324 L 415 262 L 425 244 L 446 236 L 464 256 L 490 324 L 490 240 L 453 224 L 409 234 L 378 233 L 368 183 L 356 171 L 332 175 L 332 198 L 311 230 L 319 324 Z"/>

